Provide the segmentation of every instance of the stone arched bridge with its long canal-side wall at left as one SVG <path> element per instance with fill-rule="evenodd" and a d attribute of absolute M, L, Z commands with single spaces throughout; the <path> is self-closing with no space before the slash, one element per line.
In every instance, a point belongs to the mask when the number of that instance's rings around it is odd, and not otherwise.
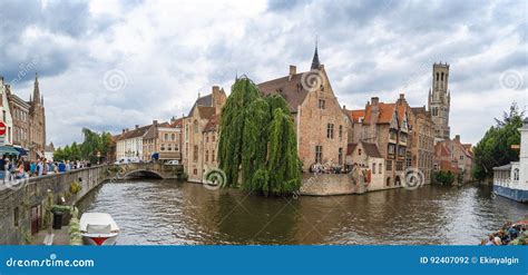
<path fill-rule="evenodd" d="M 94 166 L 25 180 L 0 179 L 0 245 L 28 244 L 32 235 L 47 228 L 49 194 L 53 205 L 61 197 L 66 205 L 75 205 L 105 181 L 131 177 L 184 179 L 185 174 L 182 166 L 129 164 Z"/>

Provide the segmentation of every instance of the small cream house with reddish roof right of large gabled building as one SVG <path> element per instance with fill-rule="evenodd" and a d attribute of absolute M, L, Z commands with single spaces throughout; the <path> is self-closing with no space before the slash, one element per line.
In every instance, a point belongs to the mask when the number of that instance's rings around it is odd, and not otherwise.
<path fill-rule="evenodd" d="M 384 158 L 381 156 L 378 145 L 360 141 L 349 144 L 346 148 L 346 166 L 351 170 L 353 167 L 368 168 L 366 190 L 378 190 L 385 188 Z"/>

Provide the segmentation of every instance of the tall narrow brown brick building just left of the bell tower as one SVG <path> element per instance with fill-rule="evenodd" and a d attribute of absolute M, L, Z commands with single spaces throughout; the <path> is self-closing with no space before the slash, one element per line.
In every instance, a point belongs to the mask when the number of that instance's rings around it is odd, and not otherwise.
<path fill-rule="evenodd" d="M 423 173 L 424 184 L 430 184 L 434 163 L 434 122 L 426 106 L 412 107 L 411 111 L 411 166 Z"/>

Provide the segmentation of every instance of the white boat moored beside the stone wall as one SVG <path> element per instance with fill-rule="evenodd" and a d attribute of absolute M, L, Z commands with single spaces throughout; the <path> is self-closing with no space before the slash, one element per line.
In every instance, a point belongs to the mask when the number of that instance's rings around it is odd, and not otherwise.
<path fill-rule="evenodd" d="M 119 227 L 109 214 L 85 213 L 80 217 L 80 234 L 85 245 L 115 245 Z"/>

